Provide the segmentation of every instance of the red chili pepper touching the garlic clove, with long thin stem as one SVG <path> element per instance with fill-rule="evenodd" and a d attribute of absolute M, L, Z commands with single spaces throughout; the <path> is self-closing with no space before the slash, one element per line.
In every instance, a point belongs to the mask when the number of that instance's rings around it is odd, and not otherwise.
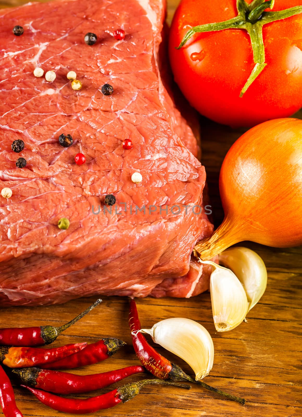
<path fill-rule="evenodd" d="M 147 342 L 142 333 L 139 332 L 141 325 L 134 299 L 130 300 L 129 324 L 135 353 L 140 359 L 140 362 L 142 362 L 144 367 L 149 372 L 151 372 L 151 374 L 160 379 L 169 379 L 171 381 L 189 381 L 194 384 L 201 385 L 209 391 L 217 392 L 217 394 L 223 395 L 228 399 L 237 401 L 240 404 L 245 404 L 244 398 L 236 397 L 232 394 L 227 394 L 220 389 L 205 384 L 205 382 L 195 381 L 195 379 L 185 374 L 185 372 L 178 365 L 175 365 L 160 355 L 158 352 L 156 352 L 156 350 Z"/>

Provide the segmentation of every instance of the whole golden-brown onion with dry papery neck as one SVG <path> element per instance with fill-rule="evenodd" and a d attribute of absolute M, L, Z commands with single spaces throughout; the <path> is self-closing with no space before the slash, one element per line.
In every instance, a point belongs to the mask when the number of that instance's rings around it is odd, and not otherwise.
<path fill-rule="evenodd" d="M 222 163 L 225 219 L 195 246 L 202 260 L 250 240 L 278 248 L 302 244 L 302 121 L 267 121 L 244 133 Z"/>

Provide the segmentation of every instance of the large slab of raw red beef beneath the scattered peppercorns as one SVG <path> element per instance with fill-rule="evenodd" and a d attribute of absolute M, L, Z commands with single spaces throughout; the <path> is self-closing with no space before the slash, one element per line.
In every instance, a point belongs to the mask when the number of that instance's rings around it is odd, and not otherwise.
<path fill-rule="evenodd" d="M 93 294 L 189 297 L 208 288 L 209 271 L 191 259 L 213 230 L 193 207 L 202 206 L 205 169 L 160 76 L 164 17 L 162 0 L 0 11 L 0 188 L 12 190 L 0 196 L 1 306 Z M 23 35 L 13 34 L 15 25 Z M 113 37 L 118 28 L 124 40 Z M 85 44 L 88 32 L 95 45 Z M 35 77 L 37 67 L 54 70 L 55 81 Z M 81 90 L 67 80 L 70 70 Z M 102 94 L 106 83 L 112 95 Z M 60 145 L 61 134 L 72 136 L 70 147 Z M 18 139 L 20 153 L 11 148 Z M 125 139 L 132 149 L 123 149 Z M 63 217 L 66 230 L 58 228 Z"/>

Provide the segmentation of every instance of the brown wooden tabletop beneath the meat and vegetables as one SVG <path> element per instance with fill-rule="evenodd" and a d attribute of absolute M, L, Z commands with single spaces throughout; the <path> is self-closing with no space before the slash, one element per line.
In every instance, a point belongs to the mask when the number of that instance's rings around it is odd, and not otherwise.
<path fill-rule="evenodd" d="M 26 3 L 7 0 L 8 4 Z M 172 17 L 178 0 L 168 1 L 168 18 Z M 210 5 L 210 3 L 209 3 Z M 300 113 L 302 117 L 302 113 Z M 215 225 L 222 221 L 218 175 L 222 160 L 231 144 L 245 131 L 232 130 L 205 118 L 202 124 L 203 163 L 215 214 Z M 172 387 L 145 387 L 136 399 L 110 410 L 95 413 L 100 417 L 294 417 L 302 416 L 301 319 L 302 319 L 302 248 L 272 249 L 246 243 L 257 251 L 268 270 L 267 291 L 242 323 L 232 332 L 217 334 L 212 322 L 210 294 L 192 299 L 142 299 L 138 310 L 144 327 L 169 317 L 187 317 L 203 324 L 212 335 L 215 362 L 205 382 L 244 396 L 246 405 L 235 404 L 199 387 L 184 392 Z M 46 307 L 6 308 L 0 312 L 0 327 L 61 325 L 85 309 L 96 297 Z M 127 325 L 128 301 L 125 298 L 104 298 L 86 319 L 65 331 L 54 346 L 71 342 L 93 343 L 102 337 L 119 337 L 127 347 L 105 362 L 78 374 L 92 374 L 137 364 L 131 347 Z M 183 369 L 190 368 L 172 354 L 158 348 Z M 131 377 L 129 381 L 139 379 Z M 121 384 L 121 383 L 120 383 Z M 116 384 L 115 386 L 118 386 Z M 108 390 L 108 389 L 107 389 Z M 82 398 L 106 392 L 106 389 L 83 394 Z M 60 416 L 62 413 L 44 407 L 29 392 L 15 389 L 17 404 L 24 416 Z M 0 415 L 2 415 L 0 413 Z"/>

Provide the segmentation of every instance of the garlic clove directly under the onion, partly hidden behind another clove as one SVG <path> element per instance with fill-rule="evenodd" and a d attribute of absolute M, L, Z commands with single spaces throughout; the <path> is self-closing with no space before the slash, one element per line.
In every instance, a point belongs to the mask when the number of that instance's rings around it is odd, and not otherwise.
<path fill-rule="evenodd" d="M 260 256 L 251 249 L 235 246 L 219 255 L 220 262 L 231 269 L 242 283 L 249 308 L 260 300 L 267 286 L 267 270 Z"/>

